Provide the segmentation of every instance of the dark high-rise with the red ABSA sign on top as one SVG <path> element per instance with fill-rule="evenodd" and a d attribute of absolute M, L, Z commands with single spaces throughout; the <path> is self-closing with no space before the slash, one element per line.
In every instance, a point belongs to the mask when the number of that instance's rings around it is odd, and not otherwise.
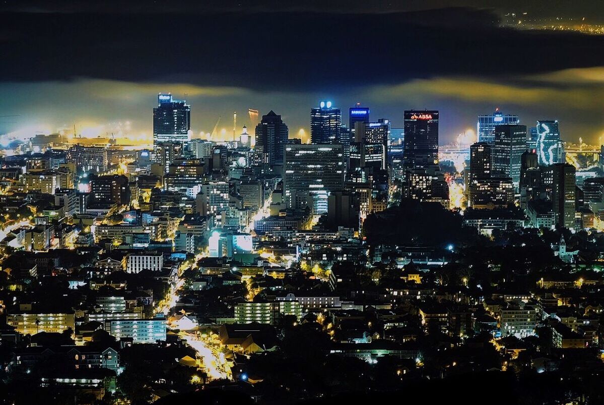
<path fill-rule="evenodd" d="M 405 111 L 405 149 L 403 164 L 406 169 L 437 165 L 439 159 L 439 112 Z"/>

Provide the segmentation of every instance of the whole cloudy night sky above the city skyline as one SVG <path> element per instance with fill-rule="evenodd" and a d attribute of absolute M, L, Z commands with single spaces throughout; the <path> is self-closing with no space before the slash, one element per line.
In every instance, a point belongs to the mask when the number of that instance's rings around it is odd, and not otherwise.
<path fill-rule="evenodd" d="M 604 135 L 604 36 L 500 26 L 522 11 L 599 24 L 597 0 L 198 3 L 5 1 L 0 115 L 19 116 L 0 133 L 129 121 L 149 134 L 156 94 L 171 91 L 187 93 L 194 134 L 219 116 L 230 134 L 233 111 L 240 126 L 254 108 L 294 136 L 329 99 L 395 127 L 403 109 L 439 109 L 441 143 L 496 106 L 527 126 L 558 119 L 565 140 Z"/>

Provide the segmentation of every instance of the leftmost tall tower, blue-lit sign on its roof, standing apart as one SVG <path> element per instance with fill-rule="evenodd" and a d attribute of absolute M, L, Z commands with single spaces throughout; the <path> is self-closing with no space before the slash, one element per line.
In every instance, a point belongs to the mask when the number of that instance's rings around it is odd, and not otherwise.
<path fill-rule="evenodd" d="M 159 94 L 158 106 L 153 108 L 153 144 L 190 140 L 191 107 L 184 100 L 172 99 L 172 94 Z"/>

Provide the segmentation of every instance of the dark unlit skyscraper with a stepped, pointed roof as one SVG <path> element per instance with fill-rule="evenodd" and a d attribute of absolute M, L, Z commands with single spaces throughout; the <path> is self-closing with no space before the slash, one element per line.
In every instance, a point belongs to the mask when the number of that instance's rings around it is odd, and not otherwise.
<path fill-rule="evenodd" d="M 256 126 L 255 147 L 263 151 L 264 163 L 283 164 L 283 146 L 288 141 L 289 129 L 281 120 L 281 115 L 269 111 L 262 115 L 262 121 Z"/>

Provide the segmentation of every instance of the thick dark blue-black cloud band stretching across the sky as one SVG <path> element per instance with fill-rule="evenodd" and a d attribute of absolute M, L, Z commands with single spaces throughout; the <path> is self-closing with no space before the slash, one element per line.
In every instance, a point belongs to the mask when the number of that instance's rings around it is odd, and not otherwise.
<path fill-rule="evenodd" d="M 178 9 L 178 8 L 177 8 Z M 491 11 L 1 14 L 4 81 L 295 91 L 604 65 L 604 37 L 499 28 Z"/>

